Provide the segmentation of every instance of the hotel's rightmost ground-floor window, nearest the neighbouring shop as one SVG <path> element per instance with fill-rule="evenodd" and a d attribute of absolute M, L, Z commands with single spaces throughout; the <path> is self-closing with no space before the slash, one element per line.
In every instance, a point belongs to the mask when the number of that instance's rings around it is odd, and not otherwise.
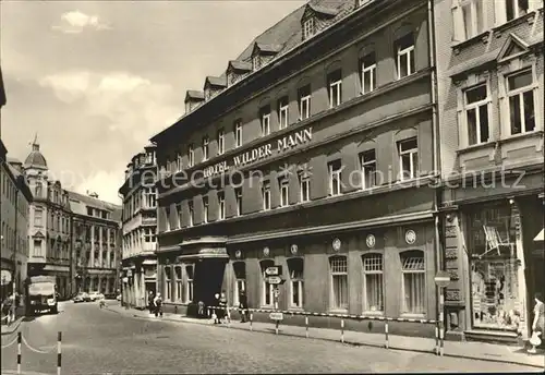
<path fill-rule="evenodd" d="M 424 254 L 420 251 L 401 253 L 403 313 L 424 314 L 425 268 Z"/>

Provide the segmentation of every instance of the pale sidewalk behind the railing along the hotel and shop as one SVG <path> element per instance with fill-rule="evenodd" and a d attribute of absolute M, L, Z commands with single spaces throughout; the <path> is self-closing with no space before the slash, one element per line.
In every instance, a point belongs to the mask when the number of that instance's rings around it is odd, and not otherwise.
<path fill-rule="evenodd" d="M 106 307 L 106 310 L 137 318 L 145 318 L 150 320 L 158 319 L 155 316 L 150 315 L 147 311 L 138 311 L 132 309 L 125 310 L 120 305 L 109 305 Z M 194 324 L 214 326 L 211 319 L 196 319 L 175 314 L 165 314 L 162 320 L 194 323 Z M 238 320 L 233 320 L 230 324 L 219 325 L 218 328 L 242 329 L 250 331 L 251 326 L 250 323 L 242 324 L 239 323 Z M 253 322 L 252 330 L 259 332 L 268 332 L 268 334 L 276 332 L 274 323 Z M 305 327 L 282 325 L 280 323 L 278 334 L 284 336 L 298 336 L 304 338 L 306 337 L 306 329 Z M 340 342 L 341 332 L 340 329 L 310 327 L 308 338 Z M 389 341 L 389 349 L 435 353 L 434 339 L 389 335 L 388 341 Z M 366 334 L 366 332 L 346 330 L 344 343 L 354 346 L 372 346 L 372 347 L 384 348 L 386 342 L 384 334 Z M 500 344 L 493 344 L 485 342 L 472 342 L 472 341 L 464 341 L 464 342 L 445 341 L 445 355 L 481 360 L 481 361 L 513 363 L 520 365 L 534 366 L 538 368 L 545 368 L 545 355 L 543 351 L 541 351 L 540 354 L 532 355 L 526 353 L 522 348 L 519 347 L 508 347 L 508 346 L 500 346 Z"/>

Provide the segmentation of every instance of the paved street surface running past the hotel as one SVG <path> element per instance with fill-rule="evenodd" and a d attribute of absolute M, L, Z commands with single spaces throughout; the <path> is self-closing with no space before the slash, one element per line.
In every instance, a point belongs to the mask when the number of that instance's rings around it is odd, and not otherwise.
<path fill-rule="evenodd" d="M 72 302 L 63 303 L 57 316 L 22 324 L 23 337 L 32 347 L 23 344 L 23 371 L 57 372 L 59 330 L 62 374 L 538 372 L 199 324 L 148 322 L 100 310 L 96 303 Z M 15 334 L 8 336 L 2 336 L 2 370 L 15 370 L 16 344 L 3 348 Z"/>

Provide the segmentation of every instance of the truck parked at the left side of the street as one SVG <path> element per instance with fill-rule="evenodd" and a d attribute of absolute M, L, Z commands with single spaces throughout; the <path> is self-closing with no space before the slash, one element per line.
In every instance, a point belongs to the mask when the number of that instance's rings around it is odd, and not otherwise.
<path fill-rule="evenodd" d="M 26 313 L 35 315 L 45 310 L 58 314 L 57 278 L 31 276 L 26 283 Z"/>

